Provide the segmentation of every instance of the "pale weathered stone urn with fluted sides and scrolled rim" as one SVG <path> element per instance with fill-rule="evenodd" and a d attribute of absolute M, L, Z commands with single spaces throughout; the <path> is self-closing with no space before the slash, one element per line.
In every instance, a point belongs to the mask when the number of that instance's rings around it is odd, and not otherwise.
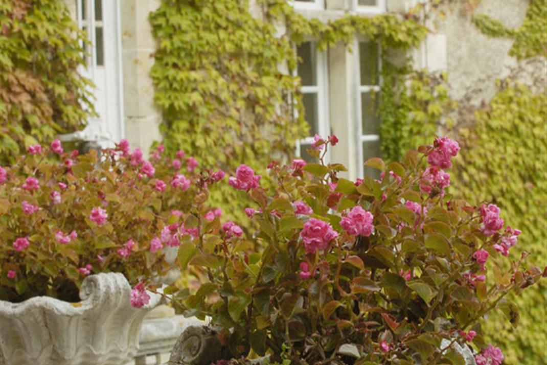
<path fill-rule="evenodd" d="M 119 273 L 86 277 L 82 302 L 34 297 L 0 300 L 0 364 L 121 365 L 138 349 L 144 316 L 161 302 L 148 293 L 142 308 L 130 304 L 131 286 Z"/>

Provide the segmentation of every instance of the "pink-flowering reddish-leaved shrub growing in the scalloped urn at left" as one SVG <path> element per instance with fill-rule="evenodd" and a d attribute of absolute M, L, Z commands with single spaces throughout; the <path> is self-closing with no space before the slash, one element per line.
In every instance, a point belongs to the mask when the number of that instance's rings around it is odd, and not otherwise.
<path fill-rule="evenodd" d="M 174 163 L 161 152 L 144 161 L 141 150 L 121 141 L 102 157 L 78 156 L 56 140 L 0 167 L 0 299 L 75 302 L 92 273 L 121 272 L 132 285 L 164 275 L 171 267 L 164 247 L 197 235 L 199 221 L 185 213 L 206 200 L 195 182 L 217 182 L 223 172 L 198 175 L 197 161 L 179 153 Z M 219 215 L 214 210 L 213 223 Z M 145 294 L 133 302 L 147 302 Z"/>

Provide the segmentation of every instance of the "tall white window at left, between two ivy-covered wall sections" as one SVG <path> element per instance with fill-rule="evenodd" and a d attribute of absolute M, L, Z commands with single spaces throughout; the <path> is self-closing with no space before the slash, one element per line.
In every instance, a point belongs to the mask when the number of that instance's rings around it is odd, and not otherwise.
<path fill-rule="evenodd" d="M 98 114 L 77 136 L 113 146 L 124 137 L 119 0 L 74 1 L 78 26 L 89 40 L 83 45 L 86 67 L 79 72 L 95 85 L 90 91 Z"/>

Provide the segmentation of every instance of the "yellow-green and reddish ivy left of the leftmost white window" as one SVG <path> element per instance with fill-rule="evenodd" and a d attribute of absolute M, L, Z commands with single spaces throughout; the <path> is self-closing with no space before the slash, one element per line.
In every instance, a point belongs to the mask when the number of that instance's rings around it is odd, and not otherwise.
<path fill-rule="evenodd" d="M 0 164 L 84 125 L 84 36 L 63 0 L 0 2 Z"/>

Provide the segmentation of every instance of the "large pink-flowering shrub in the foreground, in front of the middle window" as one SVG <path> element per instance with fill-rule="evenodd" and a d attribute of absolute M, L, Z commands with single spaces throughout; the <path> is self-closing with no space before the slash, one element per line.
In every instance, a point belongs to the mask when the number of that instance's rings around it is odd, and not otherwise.
<path fill-rule="evenodd" d="M 334 143 L 315 143 L 321 161 Z M 166 292 L 186 314 L 210 316 L 234 358 L 252 349 L 283 363 L 460 364 L 458 342 L 473 346 L 477 363 L 499 364 L 480 320 L 497 309 L 516 322 L 504 297 L 542 270 L 524 267 L 527 254 L 513 248 L 520 231 L 503 230 L 495 205 L 451 198 L 443 169 L 458 149 L 439 138 L 403 163 L 371 159 L 380 179 L 358 182 L 340 178 L 340 164 L 274 162 L 267 191 L 242 165 L 229 183 L 253 199 L 246 213 L 260 228 L 249 240 L 234 222 L 201 219 L 197 201 L 187 218 L 197 231 L 179 246 L 178 264 L 202 270 L 205 282 Z M 506 253 L 507 272 L 490 265 Z"/>

